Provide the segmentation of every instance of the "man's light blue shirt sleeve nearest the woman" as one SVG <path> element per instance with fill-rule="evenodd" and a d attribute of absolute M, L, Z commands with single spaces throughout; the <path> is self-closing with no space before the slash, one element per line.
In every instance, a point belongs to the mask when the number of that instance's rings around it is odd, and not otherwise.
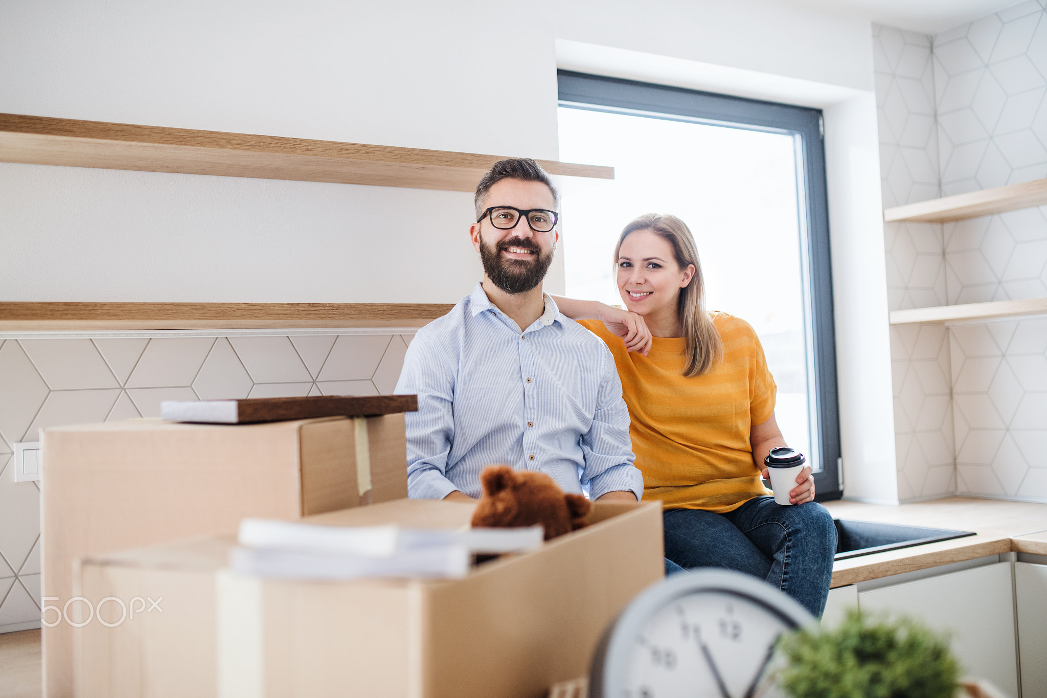
<path fill-rule="evenodd" d="M 606 346 L 602 348 L 603 375 L 593 426 L 581 438 L 585 457 L 581 481 L 589 486 L 593 499 L 608 492 L 629 491 L 639 500 L 644 494 L 644 477 L 632 465 L 636 456 L 629 438 L 629 410 L 622 400 L 622 383 L 615 360 Z"/>

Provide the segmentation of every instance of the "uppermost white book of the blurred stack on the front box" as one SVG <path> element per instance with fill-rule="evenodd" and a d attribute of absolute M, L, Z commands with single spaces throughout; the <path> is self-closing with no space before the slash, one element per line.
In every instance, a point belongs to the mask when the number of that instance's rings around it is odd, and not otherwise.
<path fill-rule="evenodd" d="M 239 543 L 245 547 L 279 548 L 328 555 L 381 558 L 426 547 L 461 545 L 469 553 L 496 555 L 539 547 L 540 525 L 518 528 L 401 528 L 387 526 L 324 526 L 273 519 L 244 519 Z"/>

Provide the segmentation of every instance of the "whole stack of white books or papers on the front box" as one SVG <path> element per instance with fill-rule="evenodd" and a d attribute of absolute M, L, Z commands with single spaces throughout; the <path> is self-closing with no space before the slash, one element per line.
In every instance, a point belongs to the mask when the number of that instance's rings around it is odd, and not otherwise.
<path fill-rule="evenodd" d="M 282 579 L 461 578 L 473 555 L 529 550 L 543 538 L 541 526 L 402 528 L 244 519 L 229 565 L 242 575 Z"/>

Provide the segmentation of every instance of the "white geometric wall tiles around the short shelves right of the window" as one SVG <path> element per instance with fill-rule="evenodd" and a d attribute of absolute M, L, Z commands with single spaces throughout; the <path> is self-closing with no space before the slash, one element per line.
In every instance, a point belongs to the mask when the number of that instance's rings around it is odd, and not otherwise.
<path fill-rule="evenodd" d="M 933 37 L 874 25 L 873 49 L 885 207 L 1047 178 L 1040 3 Z M 884 242 L 890 310 L 1047 297 L 1047 206 Z M 1047 501 L 1045 352 L 1043 318 L 891 327 L 899 499 Z"/>

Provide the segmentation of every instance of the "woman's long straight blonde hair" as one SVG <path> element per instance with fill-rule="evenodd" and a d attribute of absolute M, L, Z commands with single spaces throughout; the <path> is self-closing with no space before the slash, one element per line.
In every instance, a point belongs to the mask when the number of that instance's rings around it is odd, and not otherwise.
<path fill-rule="evenodd" d="M 684 367 L 684 376 L 688 378 L 700 376 L 723 356 L 723 342 L 709 313 L 706 312 L 706 282 L 701 274 L 694 237 L 687 224 L 675 216 L 661 213 L 641 216 L 626 225 L 618 238 L 618 244 L 615 246 L 616 269 L 622 243 L 626 235 L 638 230 L 650 230 L 672 245 L 673 256 L 681 269 L 694 265 L 694 277 L 680 290 L 676 314 L 684 329 L 684 337 L 687 338 L 687 365 Z"/>

